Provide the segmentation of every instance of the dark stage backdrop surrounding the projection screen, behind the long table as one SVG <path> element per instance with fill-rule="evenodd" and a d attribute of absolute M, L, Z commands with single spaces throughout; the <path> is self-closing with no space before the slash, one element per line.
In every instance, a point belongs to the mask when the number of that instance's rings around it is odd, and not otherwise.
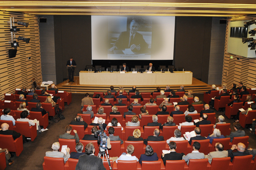
<path fill-rule="evenodd" d="M 91 60 L 91 17 L 54 16 L 54 38 L 57 84 L 67 78 L 66 61 L 77 63 L 76 76 L 86 65 L 175 65 L 193 72 L 193 77 L 208 82 L 212 17 L 176 17 L 173 60 Z"/>

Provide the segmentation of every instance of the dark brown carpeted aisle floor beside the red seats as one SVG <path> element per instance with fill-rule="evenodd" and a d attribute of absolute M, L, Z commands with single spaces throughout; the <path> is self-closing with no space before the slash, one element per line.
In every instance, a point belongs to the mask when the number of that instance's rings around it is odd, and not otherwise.
<path fill-rule="evenodd" d="M 203 101 L 203 94 L 196 94 L 196 96 Z M 51 145 L 58 141 L 60 134 L 64 133 L 65 126 L 75 118 L 77 113 L 81 113 L 81 100 L 83 97 L 84 94 L 72 94 L 72 102 L 69 106 L 65 106 L 63 112 L 65 119 L 58 123 L 50 120 L 51 124 L 47 127 L 48 131 L 38 135 L 33 142 L 30 141 L 24 144 L 24 149 L 20 156 L 17 157 L 14 154 L 15 156 L 12 160 L 15 162 L 11 166 L 7 165 L 5 170 L 43 170 L 43 157 L 45 156 L 45 152 L 51 151 Z M 216 110 L 214 110 L 214 112 L 216 113 L 216 117 L 220 114 L 224 115 L 225 113 L 217 112 Z M 232 126 L 234 120 L 228 119 L 226 116 L 225 119 L 227 123 L 231 123 L 231 131 L 234 131 Z M 243 130 L 246 132 L 246 135 L 250 136 L 249 147 L 256 148 L 256 135 L 252 135 L 248 129 Z"/>

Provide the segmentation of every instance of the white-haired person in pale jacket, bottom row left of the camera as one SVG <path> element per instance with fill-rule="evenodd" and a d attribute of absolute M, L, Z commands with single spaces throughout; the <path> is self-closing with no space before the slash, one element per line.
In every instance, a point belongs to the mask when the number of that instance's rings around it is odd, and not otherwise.
<path fill-rule="evenodd" d="M 64 162 L 68 160 L 70 157 L 70 149 L 67 147 L 66 154 L 59 151 L 60 149 L 60 143 L 55 142 L 52 144 L 52 151 L 46 151 L 45 156 L 52 157 L 52 158 L 64 158 Z"/>

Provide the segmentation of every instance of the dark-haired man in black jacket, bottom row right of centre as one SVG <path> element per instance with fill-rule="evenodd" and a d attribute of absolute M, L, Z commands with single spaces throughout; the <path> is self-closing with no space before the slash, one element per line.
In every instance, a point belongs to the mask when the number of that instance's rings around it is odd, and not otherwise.
<path fill-rule="evenodd" d="M 184 154 L 176 152 L 177 146 L 176 146 L 175 142 L 171 141 L 169 143 L 169 148 L 170 148 L 170 151 L 171 151 L 170 153 L 166 153 L 166 154 L 163 153 L 162 154 L 162 159 L 163 159 L 164 164 L 166 163 L 167 160 L 171 160 L 171 161 L 173 161 L 173 160 L 182 160 L 182 156 Z"/>

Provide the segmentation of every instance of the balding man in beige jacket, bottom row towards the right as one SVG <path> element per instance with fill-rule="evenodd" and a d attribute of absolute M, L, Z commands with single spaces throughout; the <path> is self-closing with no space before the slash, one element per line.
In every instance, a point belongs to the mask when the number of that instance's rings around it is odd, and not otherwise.
<path fill-rule="evenodd" d="M 215 143 L 215 151 L 210 152 L 208 155 L 205 155 L 205 158 L 208 159 L 208 162 L 211 164 L 213 158 L 225 158 L 228 157 L 228 151 L 224 151 L 224 147 L 221 143 Z"/>

